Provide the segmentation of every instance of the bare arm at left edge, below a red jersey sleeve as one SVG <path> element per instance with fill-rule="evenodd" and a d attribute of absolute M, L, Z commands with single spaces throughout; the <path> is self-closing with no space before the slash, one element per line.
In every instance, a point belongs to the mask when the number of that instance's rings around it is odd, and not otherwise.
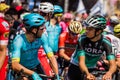
<path fill-rule="evenodd" d="M 0 69 L 5 61 L 7 45 L 0 45 Z"/>

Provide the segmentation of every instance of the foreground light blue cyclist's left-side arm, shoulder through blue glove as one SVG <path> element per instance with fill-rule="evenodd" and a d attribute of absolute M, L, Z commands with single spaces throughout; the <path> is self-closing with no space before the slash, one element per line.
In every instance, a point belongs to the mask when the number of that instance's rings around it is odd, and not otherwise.
<path fill-rule="evenodd" d="M 21 48 L 24 47 L 23 45 L 25 45 L 25 44 L 24 44 L 24 40 L 21 37 L 18 37 L 17 39 L 15 39 L 13 41 L 13 45 L 12 45 L 13 49 L 11 50 L 12 69 L 17 72 L 20 72 L 21 70 L 23 70 L 23 73 L 27 74 L 28 76 L 31 76 L 33 78 L 33 80 L 42 80 L 36 72 L 34 72 L 34 71 L 30 70 L 29 68 L 26 68 L 22 64 L 20 64 L 20 59 L 21 59 L 21 54 L 22 54 Z M 24 53 L 23 53 L 23 55 L 24 55 Z"/>

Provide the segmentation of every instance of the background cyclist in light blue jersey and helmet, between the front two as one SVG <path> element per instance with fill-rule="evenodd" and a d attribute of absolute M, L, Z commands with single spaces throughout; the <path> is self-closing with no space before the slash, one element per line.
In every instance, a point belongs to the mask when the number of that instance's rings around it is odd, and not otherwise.
<path fill-rule="evenodd" d="M 61 12 L 63 12 L 63 10 L 58 5 L 54 5 L 54 14 L 50 21 L 45 23 L 46 31 L 48 33 L 49 45 L 52 48 L 54 54 L 56 54 L 58 51 L 58 42 L 61 33 L 61 26 L 59 25 L 57 14 Z"/>

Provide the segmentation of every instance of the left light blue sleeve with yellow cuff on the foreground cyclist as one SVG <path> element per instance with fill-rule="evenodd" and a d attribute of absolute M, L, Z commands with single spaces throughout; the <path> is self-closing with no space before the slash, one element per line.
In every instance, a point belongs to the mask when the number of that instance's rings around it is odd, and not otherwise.
<path fill-rule="evenodd" d="M 11 50 L 12 62 L 15 62 L 15 61 L 20 62 L 22 44 L 24 45 L 22 37 L 16 36 L 13 43 L 11 44 L 11 46 L 13 47 L 13 49 Z"/>

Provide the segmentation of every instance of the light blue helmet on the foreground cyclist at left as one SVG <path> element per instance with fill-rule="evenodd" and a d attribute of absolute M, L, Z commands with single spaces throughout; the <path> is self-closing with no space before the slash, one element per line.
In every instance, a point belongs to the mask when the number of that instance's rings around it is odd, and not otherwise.
<path fill-rule="evenodd" d="M 43 16 L 37 13 L 30 13 L 24 16 L 23 23 L 25 24 L 26 29 L 31 29 L 32 27 L 40 27 L 45 23 Z"/>

